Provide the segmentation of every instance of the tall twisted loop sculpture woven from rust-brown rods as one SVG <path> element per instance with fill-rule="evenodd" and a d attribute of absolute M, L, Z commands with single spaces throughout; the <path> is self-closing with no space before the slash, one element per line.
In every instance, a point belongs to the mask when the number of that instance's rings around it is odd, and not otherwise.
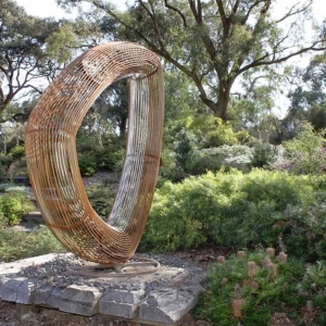
<path fill-rule="evenodd" d="M 80 176 L 76 134 L 97 97 L 129 78 L 124 168 L 108 223 L 93 211 Z M 156 184 L 163 134 L 163 73 L 159 58 L 130 42 L 90 49 L 48 87 L 26 127 L 29 179 L 46 224 L 76 255 L 125 263 L 135 253 Z"/>

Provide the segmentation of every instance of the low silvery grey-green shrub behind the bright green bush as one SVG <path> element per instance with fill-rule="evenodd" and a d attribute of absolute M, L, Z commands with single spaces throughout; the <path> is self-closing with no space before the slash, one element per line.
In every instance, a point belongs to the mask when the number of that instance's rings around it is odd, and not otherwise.
<path fill-rule="evenodd" d="M 252 160 L 252 150 L 244 145 L 221 146 L 196 150 L 191 161 L 188 163 L 188 170 L 191 175 L 203 174 L 206 171 L 216 172 L 221 168 L 229 171 L 238 168 L 242 172 L 249 172 Z"/>

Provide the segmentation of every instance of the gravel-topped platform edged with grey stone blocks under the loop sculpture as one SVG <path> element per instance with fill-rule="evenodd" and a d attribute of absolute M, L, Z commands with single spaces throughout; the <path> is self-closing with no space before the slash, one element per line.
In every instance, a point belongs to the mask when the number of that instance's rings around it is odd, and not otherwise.
<path fill-rule="evenodd" d="M 79 315 L 80 321 L 93 321 L 87 325 L 113 325 L 113 319 L 125 323 L 114 322 L 114 325 L 181 324 L 197 303 L 204 273 L 192 262 L 174 256 L 138 260 L 141 264 L 158 261 L 156 271 L 121 277 L 106 272 L 104 276 L 83 276 L 71 271 L 77 273 L 79 267 L 87 267 L 87 262 L 68 253 L 1 264 L 0 296 L 4 301 L 20 304 L 22 315 L 28 315 L 27 310 L 28 306 L 54 310 L 60 318 L 68 314 Z M 103 269 L 100 267 L 97 272 L 103 273 Z M 111 324 L 103 322 L 106 319 Z"/>

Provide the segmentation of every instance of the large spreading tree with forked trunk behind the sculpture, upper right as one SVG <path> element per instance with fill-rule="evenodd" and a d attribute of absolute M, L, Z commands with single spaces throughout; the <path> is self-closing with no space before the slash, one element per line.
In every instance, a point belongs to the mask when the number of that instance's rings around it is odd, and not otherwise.
<path fill-rule="evenodd" d="M 125 39 L 143 42 L 185 73 L 203 103 L 223 120 L 242 73 L 324 49 L 322 33 L 308 45 L 302 40 L 301 23 L 313 0 L 292 5 L 278 18 L 271 14 L 275 0 L 136 0 L 127 13 L 105 0 L 57 1 L 89 2 L 114 17 Z"/>

